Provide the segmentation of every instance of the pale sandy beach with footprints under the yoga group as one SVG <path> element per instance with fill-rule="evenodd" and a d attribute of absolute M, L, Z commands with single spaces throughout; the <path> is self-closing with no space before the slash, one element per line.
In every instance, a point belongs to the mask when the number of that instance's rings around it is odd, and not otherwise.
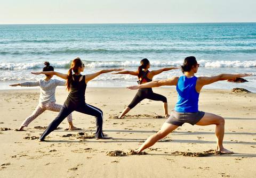
<path fill-rule="evenodd" d="M 167 97 L 169 113 L 177 101 L 174 88 L 154 88 Z M 230 89 L 231 90 L 231 89 Z M 215 149 L 215 125 L 184 124 L 175 132 L 146 149 L 147 155 L 107 156 L 108 151 L 129 152 L 161 128 L 166 118 L 162 103 L 143 100 L 123 119 L 115 119 L 130 103 L 136 90 L 87 88 L 86 103 L 104 113 L 103 132 L 110 140 L 90 138 L 95 118 L 73 112 L 79 131 L 66 131 L 65 119 L 59 129 L 38 142 L 37 137 L 58 114 L 46 111 L 25 128 L 19 125 L 38 104 L 39 89 L 0 91 L 0 177 L 254 177 L 256 162 L 256 95 L 231 94 L 227 90 L 203 89 L 199 110 L 221 115 L 226 120 L 224 146 L 233 155 L 183 156 L 182 152 Z M 57 88 L 58 104 L 68 92 Z M 35 136 L 35 137 L 33 137 Z M 63 137 L 64 136 L 64 137 Z M 84 137 L 82 137 L 84 136 Z M 87 138 L 86 138 L 87 137 Z M 180 154 L 175 154 L 179 151 Z"/>

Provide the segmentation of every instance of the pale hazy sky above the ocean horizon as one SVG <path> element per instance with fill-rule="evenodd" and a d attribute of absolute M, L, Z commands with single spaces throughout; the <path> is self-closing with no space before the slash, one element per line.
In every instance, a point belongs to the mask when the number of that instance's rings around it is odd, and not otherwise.
<path fill-rule="evenodd" d="M 256 22 L 256 0 L 0 0 L 0 24 Z"/>

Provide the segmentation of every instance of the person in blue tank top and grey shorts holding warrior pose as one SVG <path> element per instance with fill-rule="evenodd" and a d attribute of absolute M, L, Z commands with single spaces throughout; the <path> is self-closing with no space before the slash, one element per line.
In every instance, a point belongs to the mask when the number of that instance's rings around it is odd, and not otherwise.
<path fill-rule="evenodd" d="M 211 84 L 220 80 L 234 80 L 238 77 L 247 77 L 251 74 L 220 74 L 213 77 L 196 77 L 199 64 L 194 56 L 186 57 L 181 66 L 184 75 L 181 77 L 173 77 L 168 80 L 152 81 L 140 86 L 128 87 L 129 89 L 151 88 L 159 86 L 176 86 L 178 92 L 178 101 L 172 111 L 171 116 L 162 125 L 161 130 L 156 134 L 151 135 L 136 152 L 153 146 L 158 140 L 164 138 L 167 134 L 177 129 L 184 123 L 192 125 L 212 125 L 215 124 L 215 135 L 217 137 L 217 151 L 222 154 L 232 154 L 233 151 L 227 150 L 223 147 L 224 125 L 223 117 L 198 111 L 198 97 L 199 92 L 206 84 Z"/>

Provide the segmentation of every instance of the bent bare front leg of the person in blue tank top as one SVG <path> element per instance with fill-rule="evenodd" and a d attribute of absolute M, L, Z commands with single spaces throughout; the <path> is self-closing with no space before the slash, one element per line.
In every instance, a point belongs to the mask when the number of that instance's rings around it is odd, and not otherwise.
<path fill-rule="evenodd" d="M 225 120 L 223 117 L 211 114 L 211 113 L 205 113 L 204 117 L 196 123 L 196 125 L 212 125 L 215 124 L 215 135 L 217 137 L 217 151 L 220 151 L 223 154 L 232 154 L 233 151 L 227 150 L 223 147 L 223 137 L 225 132 Z"/>

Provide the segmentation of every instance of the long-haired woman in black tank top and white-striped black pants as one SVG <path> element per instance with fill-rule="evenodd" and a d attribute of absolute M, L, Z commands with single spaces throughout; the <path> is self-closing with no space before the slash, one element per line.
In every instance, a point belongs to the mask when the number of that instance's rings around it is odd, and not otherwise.
<path fill-rule="evenodd" d="M 58 125 L 73 111 L 77 111 L 84 114 L 89 114 L 96 117 L 96 126 L 97 130 L 95 132 L 95 138 L 97 139 L 107 139 L 102 132 L 102 123 L 103 123 L 103 112 L 101 109 L 94 107 L 92 105 L 85 103 L 85 89 L 87 82 L 94 79 L 98 75 L 102 73 L 112 72 L 112 71 L 121 71 L 123 69 L 109 69 L 109 70 L 101 70 L 96 73 L 81 75 L 81 72 L 84 71 L 84 64 L 80 60 L 79 57 L 75 58 L 72 61 L 71 67 L 68 71 L 68 74 L 63 74 L 59 72 L 33 72 L 33 74 L 49 74 L 49 75 L 57 75 L 58 77 L 67 80 L 67 89 L 69 91 L 69 95 L 60 110 L 58 116 L 50 123 L 50 125 L 46 128 L 44 133 L 38 139 L 39 141 L 43 141 L 44 138 L 49 135 L 52 131 L 54 131 Z M 72 74 L 74 71 L 74 74 Z"/>

